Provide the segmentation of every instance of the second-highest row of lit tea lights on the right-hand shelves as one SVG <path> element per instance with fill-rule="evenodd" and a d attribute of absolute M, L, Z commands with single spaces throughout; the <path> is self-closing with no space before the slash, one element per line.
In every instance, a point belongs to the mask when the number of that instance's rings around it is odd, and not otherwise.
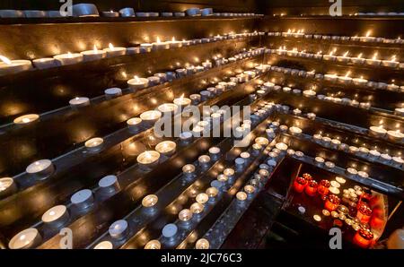
<path fill-rule="evenodd" d="M 285 46 L 279 47 L 278 49 L 268 49 L 269 54 L 277 54 L 279 56 L 299 56 L 299 57 L 306 57 L 306 58 L 314 58 L 318 60 L 324 61 L 336 61 L 341 63 L 352 63 L 355 65 L 373 65 L 373 66 L 386 66 L 391 68 L 400 67 L 401 69 L 404 68 L 404 63 L 400 63 L 397 61 L 397 56 L 393 55 L 389 59 L 378 59 L 378 53 L 374 53 L 372 58 L 364 58 L 362 57 L 363 54 L 360 53 L 357 56 L 348 56 L 349 51 L 346 51 L 343 55 L 337 56 L 335 53 L 337 52 L 337 48 L 334 48 L 329 54 L 322 54 L 321 51 L 317 52 L 316 54 L 308 53 L 305 50 L 298 51 L 297 48 L 293 48 L 288 50 Z"/>

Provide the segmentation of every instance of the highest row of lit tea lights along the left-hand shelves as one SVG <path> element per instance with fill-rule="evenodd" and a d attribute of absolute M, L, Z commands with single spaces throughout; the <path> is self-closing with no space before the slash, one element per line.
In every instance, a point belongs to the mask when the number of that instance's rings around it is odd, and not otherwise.
<path fill-rule="evenodd" d="M 216 35 L 213 37 L 206 37 L 202 39 L 176 40 L 175 38 L 172 38 L 171 40 L 166 41 L 162 41 L 160 38 L 157 38 L 154 43 L 144 43 L 140 44 L 138 47 L 115 47 L 113 44 L 110 43 L 109 47 L 99 49 L 96 45 L 93 45 L 92 50 L 86 50 L 80 53 L 67 52 L 66 54 L 60 54 L 53 57 L 34 59 L 32 60 L 32 63 L 31 60 L 10 60 L 5 56 L 0 56 L 0 75 L 9 73 L 20 73 L 23 71 L 31 70 L 33 68 L 32 64 L 37 69 L 47 69 L 60 65 L 74 65 L 81 62 L 100 60 L 106 57 L 134 55 L 155 50 L 188 47 L 190 45 L 210 43 L 224 39 L 242 39 L 262 34 L 263 32 L 254 31 Z"/>

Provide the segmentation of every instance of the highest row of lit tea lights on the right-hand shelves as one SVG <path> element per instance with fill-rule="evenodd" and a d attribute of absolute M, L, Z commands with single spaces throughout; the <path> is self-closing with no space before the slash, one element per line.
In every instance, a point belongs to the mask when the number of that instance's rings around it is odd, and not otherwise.
<path fill-rule="evenodd" d="M 308 34 L 304 33 L 304 30 L 287 30 L 285 32 L 281 31 L 270 31 L 267 33 L 268 36 L 276 36 L 276 37 L 294 37 L 294 38 L 304 38 L 304 39 L 324 39 L 324 40 L 334 40 L 334 41 L 360 41 L 364 43 L 370 42 L 378 42 L 385 44 L 404 44 L 404 39 L 400 37 L 397 39 L 387 39 L 383 37 L 373 37 L 371 36 L 372 31 L 368 30 L 364 36 L 330 36 L 330 35 L 321 35 L 321 34 Z"/>

